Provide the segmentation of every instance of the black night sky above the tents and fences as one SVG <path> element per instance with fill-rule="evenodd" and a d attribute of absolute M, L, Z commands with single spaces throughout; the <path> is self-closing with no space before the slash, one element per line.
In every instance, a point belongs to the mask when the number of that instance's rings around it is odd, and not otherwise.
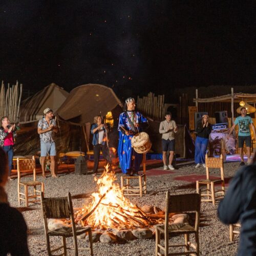
<path fill-rule="evenodd" d="M 240 2 L 240 3 L 239 3 Z M 0 79 L 119 97 L 254 84 L 254 1 L 1 1 Z"/>

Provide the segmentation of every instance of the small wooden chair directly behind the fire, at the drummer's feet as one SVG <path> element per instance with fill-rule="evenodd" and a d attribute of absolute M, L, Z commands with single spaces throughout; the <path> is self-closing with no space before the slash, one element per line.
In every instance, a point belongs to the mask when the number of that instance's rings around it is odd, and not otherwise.
<path fill-rule="evenodd" d="M 140 196 L 146 194 L 146 154 L 143 154 L 143 174 L 139 176 L 121 176 L 121 188 L 124 196 Z M 124 180 L 126 183 L 124 184 Z M 139 180 L 138 186 L 132 186 L 130 180 Z"/>

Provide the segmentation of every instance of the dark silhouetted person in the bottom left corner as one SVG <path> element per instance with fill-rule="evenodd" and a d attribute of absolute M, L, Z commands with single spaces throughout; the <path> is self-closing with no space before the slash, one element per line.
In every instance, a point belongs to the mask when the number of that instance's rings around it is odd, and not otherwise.
<path fill-rule="evenodd" d="M 27 256 L 27 225 L 23 215 L 10 207 L 4 186 L 8 180 L 8 160 L 0 148 L 0 255 Z"/>

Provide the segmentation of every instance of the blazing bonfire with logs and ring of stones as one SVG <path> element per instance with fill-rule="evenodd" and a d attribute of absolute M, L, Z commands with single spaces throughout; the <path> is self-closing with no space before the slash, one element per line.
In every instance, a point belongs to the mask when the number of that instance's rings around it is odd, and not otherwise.
<path fill-rule="evenodd" d="M 76 223 L 92 228 L 94 242 L 100 240 L 113 243 L 120 239 L 151 238 L 153 226 L 164 223 L 165 212 L 161 209 L 154 206 L 143 206 L 140 209 L 123 196 L 123 189 L 115 183 L 116 175 L 108 166 L 98 179 L 95 177 L 95 181 L 97 192 L 92 194 L 92 202 L 74 214 Z M 170 214 L 170 217 L 173 215 Z M 177 223 L 181 218 L 176 219 L 178 221 L 174 222 Z"/>

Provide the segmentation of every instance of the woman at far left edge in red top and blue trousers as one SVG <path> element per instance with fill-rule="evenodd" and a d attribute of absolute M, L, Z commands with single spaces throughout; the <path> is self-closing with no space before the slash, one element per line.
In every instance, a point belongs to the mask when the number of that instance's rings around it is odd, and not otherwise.
<path fill-rule="evenodd" d="M 0 147 L 3 148 L 4 152 L 8 156 L 8 179 L 10 178 L 12 171 L 12 159 L 13 159 L 13 146 L 14 146 L 14 138 L 16 138 L 17 134 L 15 131 L 15 123 L 10 125 L 10 121 L 7 116 L 1 118 L 1 127 L 0 127 Z"/>

